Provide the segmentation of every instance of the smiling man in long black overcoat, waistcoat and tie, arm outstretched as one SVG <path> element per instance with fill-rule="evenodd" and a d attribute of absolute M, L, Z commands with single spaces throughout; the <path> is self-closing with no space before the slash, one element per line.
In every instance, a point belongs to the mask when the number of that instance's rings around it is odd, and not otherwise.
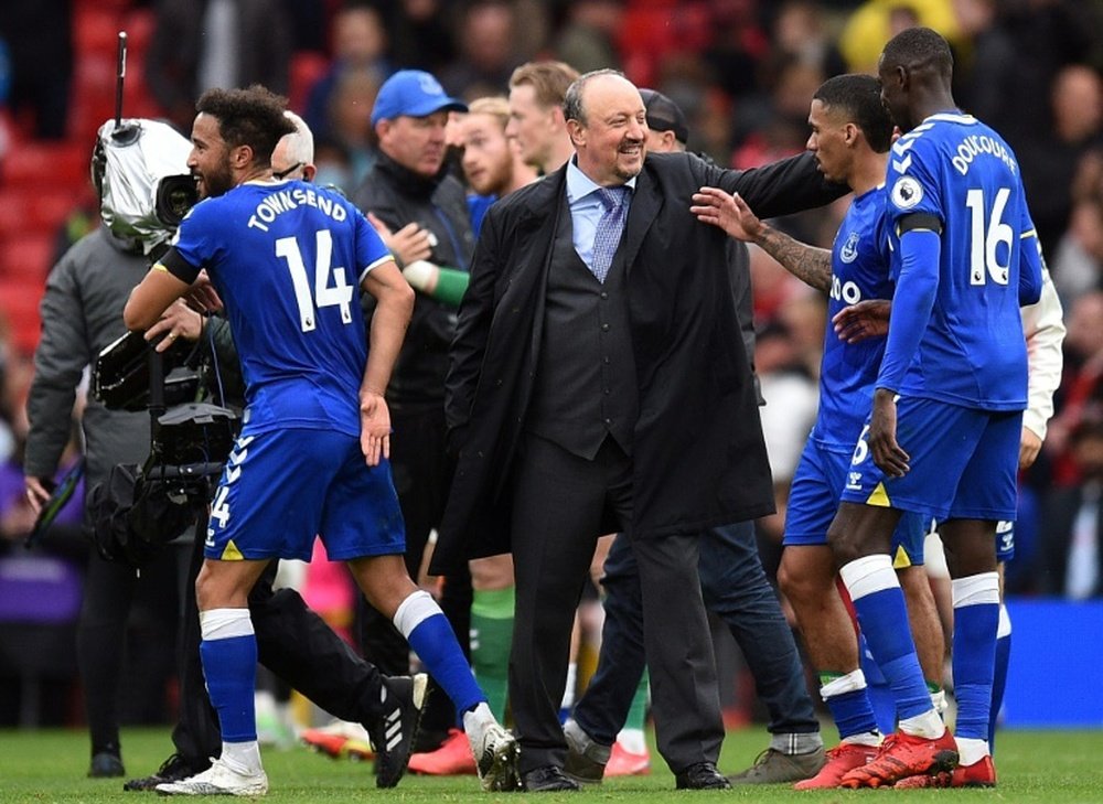
<path fill-rule="evenodd" d="M 643 100 L 613 71 L 580 77 L 564 110 L 575 158 L 483 223 L 452 344 L 459 462 L 432 569 L 512 549 L 520 770 L 527 790 L 575 790 L 557 717 L 570 628 L 598 536 L 625 533 L 658 750 L 678 787 L 725 787 L 697 535 L 773 511 L 773 492 L 725 237 L 689 199 L 714 184 L 777 215 L 843 190 L 808 154 L 746 172 L 645 159 Z"/>

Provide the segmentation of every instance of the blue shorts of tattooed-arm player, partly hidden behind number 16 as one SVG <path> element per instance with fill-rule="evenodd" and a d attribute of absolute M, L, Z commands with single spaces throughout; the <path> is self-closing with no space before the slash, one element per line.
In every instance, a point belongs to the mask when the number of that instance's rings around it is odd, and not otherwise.
<path fill-rule="evenodd" d="M 812 438 L 804 443 L 785 505 L 783 545 L 827 544 L 827 528 L 838 510 L 849 468 L 849 450 L 832 449 Z M 919 514 L 904 512 L 900 517 L 892 534 L 896 569 L 923 564 L 923 537 L 929 524 Z"/>

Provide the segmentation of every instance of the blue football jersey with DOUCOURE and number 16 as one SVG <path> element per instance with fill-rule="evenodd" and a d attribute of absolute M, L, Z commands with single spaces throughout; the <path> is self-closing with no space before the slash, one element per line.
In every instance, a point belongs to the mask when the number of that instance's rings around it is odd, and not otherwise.
<path fill-rule="evenodd" d="M 915 213 L 936 217 L 942 236 L 939 264 L 920 267 L 938 274 L 930 320 L 900 382 L 885 387 L 973 408 L 1025 408 L 1019 270 L 1021 249 L 1037 242 L 1014 152 L 976 118 L 936 114 L 892 146 L 886 184 L 893 247 L 898 223 Z M 890 366 L 903 367 L 891 343 Z"/>

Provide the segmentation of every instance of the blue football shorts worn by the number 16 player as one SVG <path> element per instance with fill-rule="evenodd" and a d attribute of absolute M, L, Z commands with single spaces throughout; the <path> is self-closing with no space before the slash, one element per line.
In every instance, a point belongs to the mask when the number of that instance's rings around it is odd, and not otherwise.
<path fill-rule="evenodd" d="M 987 411 L 917 397 L 897 399 L 897 443 L 910 457 L 902 478 L 874 463 L 866 428 L 842 500 L 943 519 L 1014 519 L 1021 411 Z"/>

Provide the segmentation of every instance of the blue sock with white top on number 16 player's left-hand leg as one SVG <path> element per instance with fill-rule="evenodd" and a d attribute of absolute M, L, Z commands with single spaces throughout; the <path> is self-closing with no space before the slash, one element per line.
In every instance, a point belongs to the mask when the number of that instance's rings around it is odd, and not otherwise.
<path fill-rule="evenodd" d="M 900 581 L 887 554 L 866 556 L 839 570 L 874 661 L 889 683 L 901 720 L 933 709 L 908 624 Z"/>

